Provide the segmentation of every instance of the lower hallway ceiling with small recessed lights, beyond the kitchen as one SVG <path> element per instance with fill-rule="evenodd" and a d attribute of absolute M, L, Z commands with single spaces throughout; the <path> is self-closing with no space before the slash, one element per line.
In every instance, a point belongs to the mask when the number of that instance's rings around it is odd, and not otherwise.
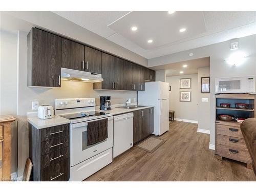
<path fill-rule="evenodd" d="M 187 65 L 186 68 L 183 66 Z M 199 59 L 192 59 L 181 62 L 169 63 L 167 65 L 152 67 L 153 70 L 166 70 L 166 77 L 177 76 L 177 75 L 189 75 L 198 73 L 198 68 L 209 67 L 210 57 L 204 57 Z M 180 71 L 183 71 L 181 74 Z"/>

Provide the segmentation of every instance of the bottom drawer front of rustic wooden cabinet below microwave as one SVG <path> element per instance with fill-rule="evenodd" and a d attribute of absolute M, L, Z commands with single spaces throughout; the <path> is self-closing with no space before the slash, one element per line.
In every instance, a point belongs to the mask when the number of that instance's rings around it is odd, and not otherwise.
<path fill-rule="evenodd" d="M 251 163 L 251 158 L 248 150 L 241 150 L 236 147 L 228 147 L 225 145 L 217 144 L 216 152 L 222 157 L 241 161 L 244 163 Z"/>

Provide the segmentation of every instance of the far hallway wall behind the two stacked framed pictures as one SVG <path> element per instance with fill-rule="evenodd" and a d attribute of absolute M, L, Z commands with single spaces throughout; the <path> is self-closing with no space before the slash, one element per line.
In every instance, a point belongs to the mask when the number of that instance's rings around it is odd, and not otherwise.
<path fill-rule="evenodd" d="M 191 89 L 180 89 L 181 78 L 191 78 Z M 169 109 L 175 111 L 175 118 L 198 121 L 198 75 L 166 77 L 166 82 L 172 87 L 169 92 Z M 181 91 L 191 92 L 191 102 L 180 101 Z"/>

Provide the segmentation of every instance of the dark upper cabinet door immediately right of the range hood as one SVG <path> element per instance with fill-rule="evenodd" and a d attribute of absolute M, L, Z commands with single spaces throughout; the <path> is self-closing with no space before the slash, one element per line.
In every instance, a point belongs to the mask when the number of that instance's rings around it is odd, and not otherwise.
<path fill-rule="evenodd" d="M 102 88 L 114 89 L 114 56 L 102 53 Z"/>

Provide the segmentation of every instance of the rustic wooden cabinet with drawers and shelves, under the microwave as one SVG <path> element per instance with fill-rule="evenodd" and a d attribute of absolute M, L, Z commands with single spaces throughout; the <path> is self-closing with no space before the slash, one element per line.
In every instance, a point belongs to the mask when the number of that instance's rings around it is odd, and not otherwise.
<path fill-rule="evenodd" d="M 220 103 L 229 103 L 230 108 L 221 108 Z M 247 103 L 250 109 L 237 109 L 235 103 Z M 249 94 L 218 94 L 216 95 L 216 154 L 221 157 L 247 163 L 251 167 L 251 158 L 236 120 L 222 121 L 218 115 L 232 115 L 235 118 L 255 117 L 255 96 Z"/>

